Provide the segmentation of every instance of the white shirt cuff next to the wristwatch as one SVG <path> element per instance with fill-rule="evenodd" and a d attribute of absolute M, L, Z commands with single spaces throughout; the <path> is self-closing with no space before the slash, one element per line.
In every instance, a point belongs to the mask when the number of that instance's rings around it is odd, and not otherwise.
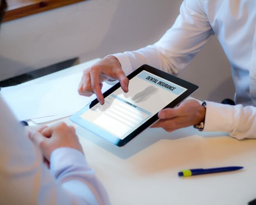
<path fill-rule="evenodd" d="M 203 131 L 207 132 L 231 132 L 233 125 L 233 107 L 205 101 L 205 125 Z"/>

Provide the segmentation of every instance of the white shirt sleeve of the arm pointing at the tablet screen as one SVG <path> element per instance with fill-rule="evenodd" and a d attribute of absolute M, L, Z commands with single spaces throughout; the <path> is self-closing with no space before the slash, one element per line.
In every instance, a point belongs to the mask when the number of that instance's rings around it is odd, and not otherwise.
<path fill-rule="evenodd" d="M 128 75 L 143 64 L 177 75 L 214 34 L 204 0 L 185 0 L 173 26 L 154 45 L 113 54 Z"/>

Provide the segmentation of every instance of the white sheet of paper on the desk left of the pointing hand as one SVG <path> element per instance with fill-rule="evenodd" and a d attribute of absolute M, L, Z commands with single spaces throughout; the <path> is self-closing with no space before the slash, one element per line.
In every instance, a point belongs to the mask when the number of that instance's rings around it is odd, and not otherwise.
<path fill-rule="evenodd" d="M 1 93 L 19 120 L 77 112 L 96 98 L 78 95 L 81 76 L 79 72 L 56 80 L 2 88 Z M 110 87 L 104 82 L 102 91 Z"/>

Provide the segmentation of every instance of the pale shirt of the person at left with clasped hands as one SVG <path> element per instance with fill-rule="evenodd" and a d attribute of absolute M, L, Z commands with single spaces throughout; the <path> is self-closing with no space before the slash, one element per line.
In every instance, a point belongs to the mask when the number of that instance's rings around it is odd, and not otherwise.
<path fill-rule="evenodd" d="M 106 191 L 84 155 L 58 148 L 50 170 L 0 97 L 0 204 L 105 205 Z"/>

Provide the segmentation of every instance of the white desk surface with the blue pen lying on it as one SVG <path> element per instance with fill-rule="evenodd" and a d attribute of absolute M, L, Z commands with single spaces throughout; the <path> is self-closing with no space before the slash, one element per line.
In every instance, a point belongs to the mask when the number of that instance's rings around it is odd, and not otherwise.
<path fill-rule="evenodd" d="M 238 141 L 223 133 L 199 132 L 191 127 L 171 133 L 154 128 L 119 148 L 69 118 L 64 121 L 76 127 L 85 156 L 113 205 L 247 205 L 256 198 L 254 139 Z M 245 169 L 178 177 L 181 169 L 218 166 Z"/>

